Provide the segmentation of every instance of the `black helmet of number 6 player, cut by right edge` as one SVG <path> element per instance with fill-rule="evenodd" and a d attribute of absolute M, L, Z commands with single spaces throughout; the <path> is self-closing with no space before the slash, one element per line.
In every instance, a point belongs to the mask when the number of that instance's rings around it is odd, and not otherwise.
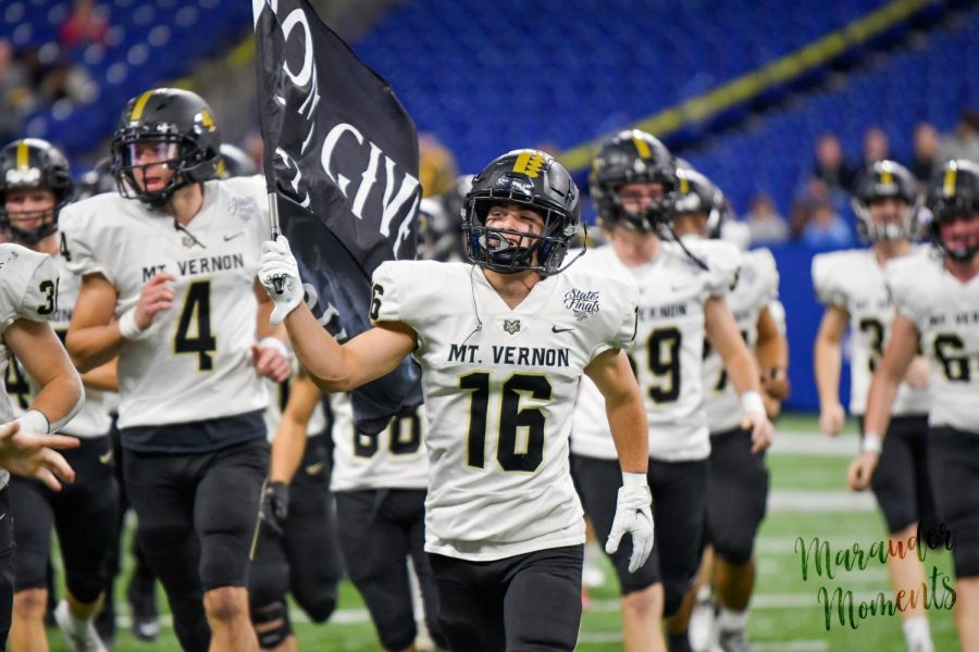
<path fill-rule="evenodd" d="M 954 261 L 970 261 L 979 244 L 949 246 L 942 240 L 941 225 L 957 217 L 977 220 L 979 214 L 979 165 L 967 160 L 949 161 L 939 168 L 928 185 L 928 209 L 931 241 Z"/>

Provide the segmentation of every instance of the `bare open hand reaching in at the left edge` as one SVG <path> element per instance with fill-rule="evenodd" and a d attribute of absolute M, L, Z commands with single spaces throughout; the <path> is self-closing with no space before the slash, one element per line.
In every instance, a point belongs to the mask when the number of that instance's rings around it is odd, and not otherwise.
<path fill-rule="evenodd" d="M 34 435 L 21 430 L 21 424 L 0 425 L 0 466 L 18 476 L 37 478 L 54 491 L 61 490 L 59 479 L 75 480 L 75 472 L 61 453 L 52 449 L 78 448 L 76 437 Z"/>

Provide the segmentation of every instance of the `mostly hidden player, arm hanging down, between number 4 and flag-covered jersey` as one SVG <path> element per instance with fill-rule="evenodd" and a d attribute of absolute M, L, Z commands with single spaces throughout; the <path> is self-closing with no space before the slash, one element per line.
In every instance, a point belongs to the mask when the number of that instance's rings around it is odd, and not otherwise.
<path fill-rule="evenodd" d="M 329 492 L 331 465 L 324 440 L 330 426 L 322 393 L 301 373 L 277 385 L 267 383 L 270 386 L 275 390 L 265 413 L 274 435 L 272 464 L 248 590 L 259 645 L 286 652 L 297 649 L 286 593 L 293 593 L 313 623 L 325 623 L 336 609 L 343 568 Z M 287 476 L 276 472 L 276 457 L 281 465 L 283 456 Z M 283 477 L 287 479 L 278 481 Z"/>

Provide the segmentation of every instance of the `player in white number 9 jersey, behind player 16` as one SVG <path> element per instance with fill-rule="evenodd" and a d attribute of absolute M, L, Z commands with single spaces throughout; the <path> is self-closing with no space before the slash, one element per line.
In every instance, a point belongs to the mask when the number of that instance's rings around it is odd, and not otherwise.
<path fill-rule="evenodd" d="M 748 432 L 752 453 L 769 444 L 772 428 L 757 366 L 724 303 L 740 252 L 716 240 L 660 238 L 671 230 L 678 186 L 669 150 L 643 131 L 622 131 L 602 145 L 590 186 L 609 243 L 588 252 L 584 262 L 639 286 L 639 327 L 630 355 L 649 423 L 654 516 L 670 531 L 657 539 L 654 554 L 634 575 L 627 573 L 621 552 L 611 555 L 622 594 L 622 629 L 628 649 L 662 650 L 661 619 L 680 609 L 699 562 L 710 453 L 702 380 L 705 336 L 741 396 L 735 414 Z M 615 509 L 608 486 L 615 451 L 600 419 L 608 409 L 583 381 L 571 440 L 573 463 L 599 537 L 609 530 Z M 671 629 L 670 649 L 689 649 L 685 623 Z"/>

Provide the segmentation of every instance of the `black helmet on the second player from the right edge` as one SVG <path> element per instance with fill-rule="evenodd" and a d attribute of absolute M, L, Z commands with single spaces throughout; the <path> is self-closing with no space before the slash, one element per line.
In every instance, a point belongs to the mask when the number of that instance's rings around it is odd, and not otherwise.
<path fill-rule="evenodd" d="M 907 204 L 901 223 L 876 224 L 870 217 L 870 205 L 890 198 Z M 854 181 L 851 203 L 857 216 L 857 233 L 864 240 L 901 240 L 917 235 L 921 193 L 915 175 L 900 163 L 878 161 L 865 167 Z"/>

